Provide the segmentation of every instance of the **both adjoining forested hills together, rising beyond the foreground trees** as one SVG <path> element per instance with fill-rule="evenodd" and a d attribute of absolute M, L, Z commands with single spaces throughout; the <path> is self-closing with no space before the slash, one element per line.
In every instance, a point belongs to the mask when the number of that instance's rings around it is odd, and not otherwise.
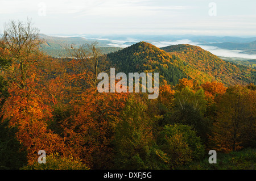
<path fill-rule="evenodd" d="M 168 53 L 167 53 L 168 52 Z M 255 70 L 221 60 L 197 46 L 180 44 L 157 48 L 144 41 L 108 54 L 118 72 L 159 72 L 176 85 L 181 78 L 196 79 L 199 83 L 218 81 L 225 85 L 255 83 Z"/>

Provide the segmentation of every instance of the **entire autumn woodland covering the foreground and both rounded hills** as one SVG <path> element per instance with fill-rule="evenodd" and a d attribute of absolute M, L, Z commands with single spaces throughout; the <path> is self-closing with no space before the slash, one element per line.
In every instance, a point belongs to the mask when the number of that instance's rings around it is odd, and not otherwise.
<path fill-rule="evenodd" d="M 42 44 L 30 22 L 0 39 L 0 169 L 256 168 L 254 69 L 191 45 L 103 54 L 92 43 L 52 58 Z M 159 72 L 158 98 L 99 93 L 110 68 Z M 212 149 L 222 165 L 205 163 Z"/>

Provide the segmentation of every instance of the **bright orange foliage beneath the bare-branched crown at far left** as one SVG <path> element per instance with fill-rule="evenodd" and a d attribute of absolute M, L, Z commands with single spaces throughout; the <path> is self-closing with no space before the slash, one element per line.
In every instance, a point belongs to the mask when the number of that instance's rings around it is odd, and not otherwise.
<path fill-rule="evenodd" d="M 38 85 L 38 75 L 31 72 L 20 88 L 18 83 L 9 83 L 9 98 L 3 104 L 1 115 L 3 120 L 10 120 L 10 127 L 17 126 L 16 136 L 27 149 L 28 163 L 36 161 L 38 151 L 47 154 L 61 150 L 61 138 L 47 129 L 51 120 L 51 99 Z"/>

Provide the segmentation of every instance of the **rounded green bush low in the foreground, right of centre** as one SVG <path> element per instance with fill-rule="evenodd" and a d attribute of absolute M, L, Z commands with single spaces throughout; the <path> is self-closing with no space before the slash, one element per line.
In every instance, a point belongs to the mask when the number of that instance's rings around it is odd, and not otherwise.
<path fill-rule="evenodd" d="M 167 163 L 171 169 L 187 164 L 204 155 L 200 137 L 188 125 L 166 125 L 159 133 L 158 145 L 166 153 Z"/>

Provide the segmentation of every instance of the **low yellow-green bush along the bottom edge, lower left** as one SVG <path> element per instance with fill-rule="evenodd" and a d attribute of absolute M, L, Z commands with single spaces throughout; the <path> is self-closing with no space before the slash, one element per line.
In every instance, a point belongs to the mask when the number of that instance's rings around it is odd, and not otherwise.
<path fill-rule="evenodd" d="M 34 162 L 32 165 L 22 167 L 22 170 L 89 170 L 79 158 L 72 155 L 60 156 L 58 153 L 46 155 L 46 163 Z"/>

